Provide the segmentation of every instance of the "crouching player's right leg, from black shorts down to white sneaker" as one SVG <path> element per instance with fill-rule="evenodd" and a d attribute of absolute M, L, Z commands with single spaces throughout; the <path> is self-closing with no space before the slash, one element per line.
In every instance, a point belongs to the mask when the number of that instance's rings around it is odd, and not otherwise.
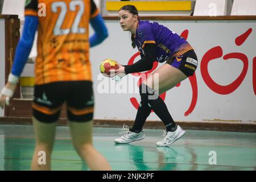
<path fill-rule="evenodd" d="M 147 90 L 151 90 L 150 93 L 144 93 L 148 96 L 148 103 L 166 126 L 166 140 L 158 142 L 157 144 L 159 146 L 167 146 L 185 134 L 185 131 L 182 130 L 180 126 L 176 125 L 174 119 L 172 119 L 171 114 L 167 109 L 166 104 L 162 98 L 159 97 L 159 95 L 167 90 L 170 90 L 188 76 L 193 75 L 193 72 L 195 72 L 196 69 L 195 65 L 193 65 L 194 67 L 191 65 L 184 67 L 184 65 L 188 64 L 188 56 L 190 56 L 190 54 L 183 55 L 180 59 L 178 59 L 178 61 L 180 61 L 178 68 L 175 68 L 172 64 L 164 64 L 143 82 L 143 85 L 147 88 Z M 191 68 L 193 69 L 190 70 Z M 159 91 L 156 88 L 158 88 Z"/>

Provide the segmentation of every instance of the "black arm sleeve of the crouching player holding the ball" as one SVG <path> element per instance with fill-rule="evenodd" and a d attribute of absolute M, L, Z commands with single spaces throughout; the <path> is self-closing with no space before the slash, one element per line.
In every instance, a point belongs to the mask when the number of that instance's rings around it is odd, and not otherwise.
<path fill-rule="evenodd" d="M 125 66 L 125 73 L 138 73 L 152 69 L 153 63 L 156 60 L 156 44 L 147 43 L 144 44 L 144 56 L 141 53 L 142 59 L 132 65 Z"/>

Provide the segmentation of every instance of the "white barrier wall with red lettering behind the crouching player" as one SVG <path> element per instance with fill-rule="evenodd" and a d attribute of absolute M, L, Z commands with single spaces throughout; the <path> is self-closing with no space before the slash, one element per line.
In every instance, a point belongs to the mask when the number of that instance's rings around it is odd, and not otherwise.
<path fill-rule="evenodd" d="M 158 22 L 177 34 L 183 32 L 199 59 L 196 75 L 165 95 L 164 100 L 175 121 L 255 122 L 256 22 Z M 135 119 L 140 101 L 139 77 L 129 75 L 117 84 L 110 78 L 102 78 L 99 66 L 106 58 L 125 65 L 138 51 L 131 48 L 130 35 L 121 30 L 118 20 L 106 20 L 106 24 L 109 38 L 90 49 L 96 100 L 94 118 Z M 159 118 L 153 113 L 148 120 Z"/>

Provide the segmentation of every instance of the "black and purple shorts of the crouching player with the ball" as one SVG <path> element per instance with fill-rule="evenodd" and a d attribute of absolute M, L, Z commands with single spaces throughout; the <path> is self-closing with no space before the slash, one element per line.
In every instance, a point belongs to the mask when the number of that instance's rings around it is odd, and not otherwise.
<path fill-rule="evenodd" d="M 197 68 L 197 56 L 194 50 L 185 52 L 183 55 L 172 57 L 167 64 L 179 69 L 187 77 L 193 76 Z"/>

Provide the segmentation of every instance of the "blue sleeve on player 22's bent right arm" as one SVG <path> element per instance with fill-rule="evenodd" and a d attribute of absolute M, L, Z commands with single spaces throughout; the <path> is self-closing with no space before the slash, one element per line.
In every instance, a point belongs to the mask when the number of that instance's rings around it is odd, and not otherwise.
<path fill-rule="evenodd" d="M 100 14 L 98 14 L 95 18 L 90 19 L 90 24 L 92 25 L 95 33 L 90 36 L 89 42 L 90 47 L 94 47 L 108 37 L 108 30 Z"/>

